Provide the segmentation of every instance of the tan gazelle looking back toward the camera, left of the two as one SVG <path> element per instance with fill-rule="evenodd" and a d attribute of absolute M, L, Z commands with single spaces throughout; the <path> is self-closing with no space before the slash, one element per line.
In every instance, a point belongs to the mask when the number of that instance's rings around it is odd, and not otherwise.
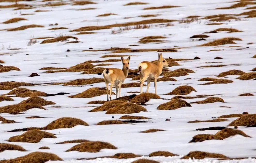
<path fill-rule="evenodd" d="M 123 63 L 122 70 L 117 68 L 106 68 L 103 71 L 103 77 L 107 87 L 107 101 L 108 101 L 108 83 L 110 83 L 110 97 L 109 97 L 110 101 L 111 101 L 112 88 L 114 84 L 115 84 L 116 98 L 117 98 L 118 92 L 120 97 L 121 85 L 125 81 L 125 78 L 128 76 L 130 58 L 131 57 L 128 56 L 127 59 L 124 59 L 121 56 L 121 61 Z"/>

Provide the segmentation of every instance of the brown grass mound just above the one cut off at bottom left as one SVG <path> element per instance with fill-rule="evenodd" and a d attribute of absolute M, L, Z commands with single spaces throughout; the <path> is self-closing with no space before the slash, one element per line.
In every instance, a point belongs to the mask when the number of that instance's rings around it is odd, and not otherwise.
<path fill-rule="evenodd" d="M 57 138 L 52 133 L 48 133 L 40 130 L 29 130 L 22 135 L 10 137 L 9 142 L 27 142 L 27 143 L 38 143 L 43 138 Z"/>

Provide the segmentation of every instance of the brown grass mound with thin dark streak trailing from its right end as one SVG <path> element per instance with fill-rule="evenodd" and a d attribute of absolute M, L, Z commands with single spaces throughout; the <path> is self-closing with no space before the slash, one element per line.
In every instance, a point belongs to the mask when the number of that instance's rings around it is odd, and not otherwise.
<path fill-rule="evenodd" d="M 27 88 L 16 88 L 4 95 L 16 95 L 16 97 L 34 97 L 34 96 L 46 96 L 44 92 L 30 90 Z"/>

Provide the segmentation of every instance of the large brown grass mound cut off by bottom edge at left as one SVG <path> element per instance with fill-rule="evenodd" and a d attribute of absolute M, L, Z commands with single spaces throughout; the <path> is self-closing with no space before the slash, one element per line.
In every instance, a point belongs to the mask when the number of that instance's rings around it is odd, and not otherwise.
<path fill-rule="evenodd" d="M 17 157 L 15 159 L 7 160 L 5 163 L 28 163 L 28 162 L 37 162 L 44 163 L 47 161 L 63 161 L 59 156 L 53 153 L 46 152 L 32 152 L 22 157 Z"/>

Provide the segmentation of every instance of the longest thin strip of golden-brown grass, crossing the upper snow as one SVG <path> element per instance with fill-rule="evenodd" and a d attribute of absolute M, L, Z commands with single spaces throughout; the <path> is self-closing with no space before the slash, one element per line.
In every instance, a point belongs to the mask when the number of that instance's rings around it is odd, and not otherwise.
<path fill-rule="evenodd" d="M 122 24 L 112 24 L 112 25 L 106 25 L 106 26 L 87 26 L 87 27 L 81 27 L 78 29 L 71 30 L 71 32 L 82 32 L 82 31 L 109 29 L 112 27 L 126 27 L 126 26 L 136 26 L 136 25 L 152 24 L 152 23 L 167 23 L 167 22 L 172 22 L 172 21 L 175 21 L 175 20 L 149 19 L 149 20 L 141 20 L 141 21 L 137 21 L 137 22 L 127 22 L 127 23 L 122 23 Z"/>

